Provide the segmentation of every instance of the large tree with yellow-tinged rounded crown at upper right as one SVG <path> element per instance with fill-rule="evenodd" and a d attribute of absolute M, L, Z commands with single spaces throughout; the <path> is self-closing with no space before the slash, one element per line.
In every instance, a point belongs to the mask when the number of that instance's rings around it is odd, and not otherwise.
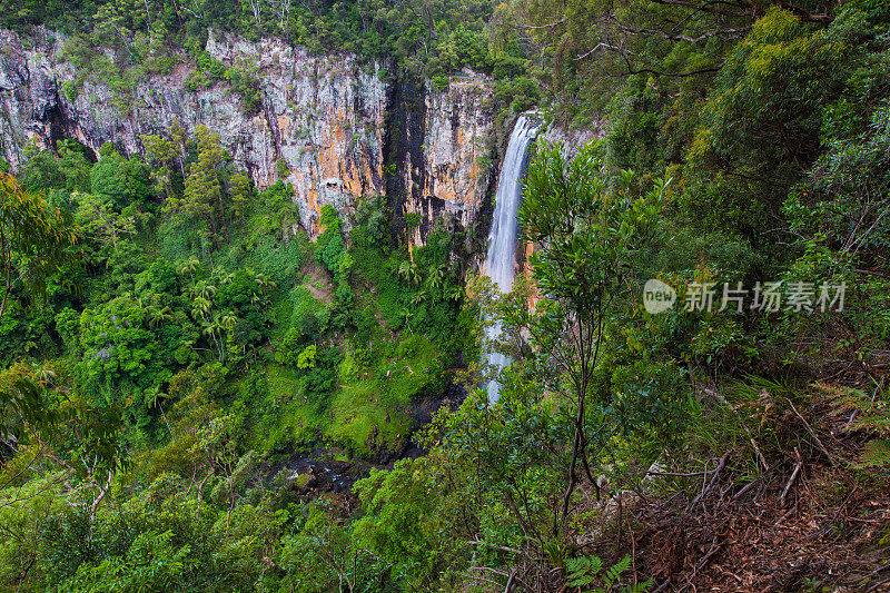
<path fill-rule="evenodd" d="M 778 9 L 754 23 L 715 78 L 688 152 L 694 195 L 706 196 L 693 216 L 761 249 L 775 243 L 762 229 L 819 157 L 825 106 L 882 68 L 868 57 L 870 32 L 854 10 L 824 29 Z"/>

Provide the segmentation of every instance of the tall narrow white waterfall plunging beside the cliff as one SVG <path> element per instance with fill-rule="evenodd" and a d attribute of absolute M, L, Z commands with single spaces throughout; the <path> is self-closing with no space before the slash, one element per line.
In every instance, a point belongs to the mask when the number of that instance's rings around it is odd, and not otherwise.
<path fill-rule="evenodd" d="M 497 180 L 497 195 L 495 197 L 492 230 L 488 234 L 488 254 L 485 258 L 485 273 L 492 278 L 502 293 L 513 288 L 514 257 L 516 251 L 516 215 L 522 204 L 523 177 L 528 166 L 528 145 L 534 140 L 540 125 L 520 116 L 513 132 L 510 135 L 507 152 L 501 167 L 501 177 Z M 501 325 L 496 324 L 488 329 L 488 338 L 501 333 Z M 510 364 L 510 359 L 500 353 L 487 356 L 490 364 L 500 372 Z M 496 380 L 488 383 L 488 401 L 497 402 L 501 384 Z"/>

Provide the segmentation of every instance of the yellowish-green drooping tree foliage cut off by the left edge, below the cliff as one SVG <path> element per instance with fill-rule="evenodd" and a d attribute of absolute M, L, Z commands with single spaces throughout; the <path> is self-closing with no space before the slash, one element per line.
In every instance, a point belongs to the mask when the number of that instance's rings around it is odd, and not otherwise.
<path fill-rule="evenodd" d="M 76 229 L 67 213 L 0 172 L 0 317 L 13 289 L 26 287 L 32 296 L 42 296 L 47 278 L 75 258 L 76 243 Z"/>

